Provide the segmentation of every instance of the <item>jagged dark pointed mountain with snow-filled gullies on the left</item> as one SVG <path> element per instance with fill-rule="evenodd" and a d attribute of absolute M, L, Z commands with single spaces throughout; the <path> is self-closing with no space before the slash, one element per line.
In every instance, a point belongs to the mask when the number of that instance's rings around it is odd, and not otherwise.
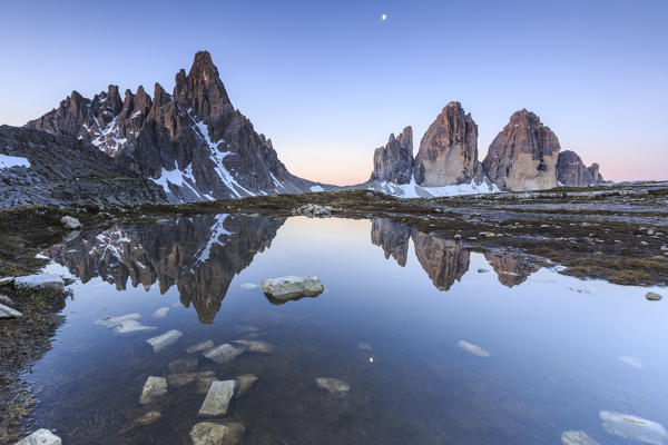
<path fill-rule="evenodd" d="M 150 178 L 170 201 L 310 191 L 315 182 L 291 175 L 272 141 L 233 107 L 210 55 L 200 51 L 189 72 L 176 75 L 174 93 L 156 83 L 118 87 L 92 100 L 73 91 L 27 127 L 68 132 L 114 158 L 118 168 Z"/>

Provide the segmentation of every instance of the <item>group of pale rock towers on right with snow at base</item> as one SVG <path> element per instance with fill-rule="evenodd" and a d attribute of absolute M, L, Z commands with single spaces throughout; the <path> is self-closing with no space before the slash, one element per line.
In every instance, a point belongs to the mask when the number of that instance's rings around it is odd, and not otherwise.
<path fill-rule="evenodd" d="M 478 158 L 478 126 L 459 102 L 448 103 L 432 122 L 414 161 L 412 144 L 399 140 L 392 135 L 385 147 L 375 150 L 371 179 L 358 187 L 431 197 L 543 190 L 559 184 L 579 187 L 603 180 L 597 164 L 587 168 L 573 151 L 560 154 L 557 136 L 525 109 L 510 117 L 482 162 Z"/>

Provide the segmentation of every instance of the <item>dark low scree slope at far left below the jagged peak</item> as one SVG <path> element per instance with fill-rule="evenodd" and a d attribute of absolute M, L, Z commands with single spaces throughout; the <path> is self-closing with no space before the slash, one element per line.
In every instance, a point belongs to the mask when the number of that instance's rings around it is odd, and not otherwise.
<path fill-rule="evenodd" d="M 0 208 L 167 202 L 161 187 L 115 167 L 108 155 L 67 132 L 0 126 L 0 154 L 30 164 L 0 168 Z"/>

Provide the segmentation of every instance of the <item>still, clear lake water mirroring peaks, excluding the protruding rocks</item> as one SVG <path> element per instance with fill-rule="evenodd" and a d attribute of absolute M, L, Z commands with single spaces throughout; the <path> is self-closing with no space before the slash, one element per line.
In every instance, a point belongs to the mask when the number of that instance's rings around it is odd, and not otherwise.
<path fill-rule="evenodd" d="M 668 305 L 647 289 L 470 253 L 383 219 L 202 216 L 86 231 L 45 254 L 78 279 L 26 378 L 39 399 L 32 426 L 65 444 L 190 443 L 205 397 L 195 383 L 138 400 L 148 376 L 191 357 L 218 379 L 257 375 L 225 417 L 245 426 L 243 444 L 554 444 L 570 429 L 622 444 L 639 442 L 606 431 L 601 411 L 668 424 Z M 326 290 L 274 305 L 242 286 L 284 275 L 317 276 Z M 156 329 L 95 324 L 130 313 Z M 169 329 L 184 336 L 154 353 L 146 339 Z M 274 352 L 224 365 L 185 352 L 243 338 Z M 335 397 L 316 377 L 350 393 Z M 148 411 L 161 417 L 134 426 Z"/>

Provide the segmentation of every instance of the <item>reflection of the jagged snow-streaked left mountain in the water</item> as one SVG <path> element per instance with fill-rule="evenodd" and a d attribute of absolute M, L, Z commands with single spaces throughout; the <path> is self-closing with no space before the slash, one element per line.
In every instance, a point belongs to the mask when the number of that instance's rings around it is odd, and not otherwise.
<path fill-rule="evenodd" d="M 213 323 L 234 276 L 271 246 L 285 218 L 206 215 L 164 224 L 112 227 L 49 248 L 46 254 L 84 283 L 101 277 L 124 290 L 160 293 L 177 286 L 181 303 Z"/>

